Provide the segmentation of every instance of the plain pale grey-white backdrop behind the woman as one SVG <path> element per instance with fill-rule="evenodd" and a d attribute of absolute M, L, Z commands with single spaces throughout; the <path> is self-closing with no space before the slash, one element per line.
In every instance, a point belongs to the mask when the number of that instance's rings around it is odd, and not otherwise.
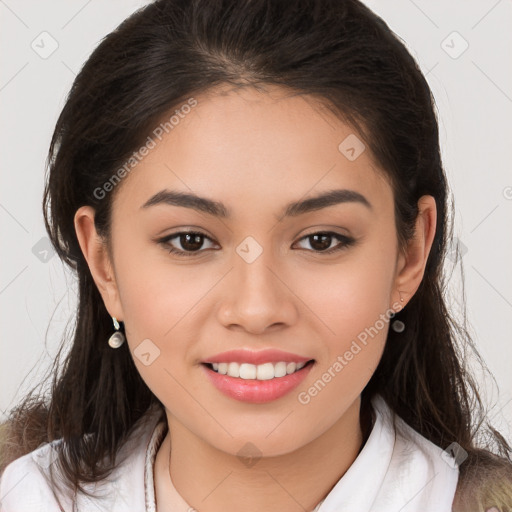
<path fill-rule="evenodd" d="M 55 122 L 95 46 L 146 3 L 0 0 L 0 419 L 38 382 L 76 309 L 74 277 L 49 247 L 42 217 Z M 462 265 L 470 332 L 497 383 L 478 372 L 480 390 L 510 440 L 512 3 L 366 3 L 404 41 L 436 100 L 462 254 L 449 300 L 461 315 Z"/>

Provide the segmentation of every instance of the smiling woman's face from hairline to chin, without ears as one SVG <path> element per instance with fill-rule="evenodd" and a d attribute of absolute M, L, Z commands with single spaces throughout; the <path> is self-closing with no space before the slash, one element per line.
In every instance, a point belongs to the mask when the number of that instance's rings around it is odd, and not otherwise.
<path fill-rule="evenodd" d="M 118 185 L 118 297 L 106 304 L 171 423 L 228 453 L 250 441 L 270 456 L 358 411 L 404 288 L 392 190 L 369 149 L 311 98 L 269 91 L 197 96 L 162 140 L 153 136 Z M 308 207 L 341 190 L 349 200 Z M 178 206 L 164 191 L 212 203 Z M 178 236 L 186 231 L 200 235 Z M 261 363 L 314 363 L 259 384 L 205 365 L 233 349 L 292 354 Z"/>

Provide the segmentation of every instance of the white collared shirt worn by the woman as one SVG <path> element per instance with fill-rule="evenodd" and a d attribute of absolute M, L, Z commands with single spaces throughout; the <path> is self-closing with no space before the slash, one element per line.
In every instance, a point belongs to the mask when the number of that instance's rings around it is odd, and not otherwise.
<path fill-rule="evenodd" d="M 313 512 L 451 512 L 459 476 L 453 457 L 396 415 L 395 427 L 380 396 L 372 406 L 376 419 L 363 449 Z M 0 512 L 155 512 L 153 466 L 166 429 L 161 412 L 148 411 L 119 450 L 120 464 L 109 477 L 83 484 L 97 498 L 60 497 L 63 509 L 44 478 L 57 466 L 53 446 L 61 440 L 41 445 L 5 469 Z M 169 485 L 173 502 L 167 508 L 192 510 L 170 478 Z"/>

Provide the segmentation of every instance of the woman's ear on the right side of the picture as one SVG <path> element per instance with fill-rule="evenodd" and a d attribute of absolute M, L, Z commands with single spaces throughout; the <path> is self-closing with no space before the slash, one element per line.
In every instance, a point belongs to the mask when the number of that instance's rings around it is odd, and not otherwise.
<path fill-rule="evenodd" d="M 397 274 L 395 278 L 395 293 L 401 292 L 398 303 L 405 307 L 407 302 L 419 288 L 428 255 L 434 241 L 436 232 L 437 208 L 433 196 L 422 196 L 418 201 L 418 216 L 413 238 L 409 241 L 406 249 L 400 253 L 397 263 Z M 404 299 L 400 302 L 400 297 Z"/>

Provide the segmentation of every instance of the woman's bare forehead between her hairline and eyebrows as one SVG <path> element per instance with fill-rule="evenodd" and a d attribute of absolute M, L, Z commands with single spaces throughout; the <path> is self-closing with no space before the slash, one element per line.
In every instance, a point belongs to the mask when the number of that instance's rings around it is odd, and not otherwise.
<path fill-rule="evenodd" d="M 220 87 L 193 100 L 162 118 L 167 130 L 150 134 L 151 149 L 123 178 L 115 211 L 140 209 L 163 189 L 222 200 L 234 215 L 237 205 L 277 209 L 334 188 L 389 209 L 391 189 L 368 146 L 311 96 Z"/>

